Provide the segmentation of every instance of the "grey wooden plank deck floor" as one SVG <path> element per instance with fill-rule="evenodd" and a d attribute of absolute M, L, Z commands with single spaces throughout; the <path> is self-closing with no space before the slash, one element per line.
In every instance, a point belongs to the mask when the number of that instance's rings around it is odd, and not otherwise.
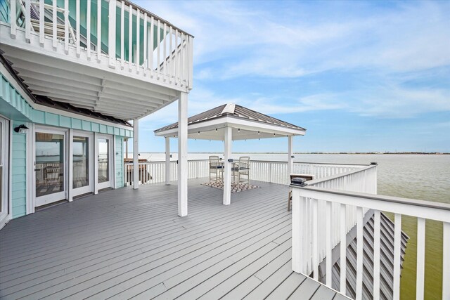
<path fill-rule="evenodd" d="M 14 219 L 0 231 L 1 299 L 347 299 L 290 262 L 288 187 L 233 193 L 191 180 L 122 188 Z"/>

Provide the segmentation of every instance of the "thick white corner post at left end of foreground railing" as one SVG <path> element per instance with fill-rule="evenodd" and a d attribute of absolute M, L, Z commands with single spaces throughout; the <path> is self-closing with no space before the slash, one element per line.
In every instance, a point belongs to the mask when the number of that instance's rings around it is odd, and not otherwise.
<path fill-rule="evenodd" d="M 300 197 L 300 190 L 293 188 L 293 207 L 292 207 L 293 221 L 293 247 L 292 247 L 292 263 L 293 271 L 296 273 L 303 273 L 303 217 L 304 217 L 304 198 Z"/>

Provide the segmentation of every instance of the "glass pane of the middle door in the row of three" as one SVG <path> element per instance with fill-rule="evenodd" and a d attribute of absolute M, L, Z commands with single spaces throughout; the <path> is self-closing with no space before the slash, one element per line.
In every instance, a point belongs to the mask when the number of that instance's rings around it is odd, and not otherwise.
<path fill-rule="evenodd" d="M 89 138 L 73 137 L 73 188 L 89 185 Z"/>

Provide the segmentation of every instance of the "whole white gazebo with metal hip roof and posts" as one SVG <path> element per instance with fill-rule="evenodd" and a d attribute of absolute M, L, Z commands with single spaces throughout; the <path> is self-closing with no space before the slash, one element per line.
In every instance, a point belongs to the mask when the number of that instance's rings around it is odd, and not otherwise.
<path fill-rule="evenodd" d="M 231 204 L 231 143 L 259 138 L 288 137 L 288 174 L 293 170 L 293 137 L 304 136 L 306 129 L 255 112 L 233 103 L 201 112 L 188 118 L 188 138 L 224 141 L 224 205 Z M 165 137 L 166 184 L 169 184 L 170 140 L 178 137 L 178 122 L 155 130 L 155 136 Z M 187 141 L 179 141 L 187 143 Z M 181 170 L 187 171 L 187 170 Z M 187 211 L 186 203 L 179 203 Z"/>

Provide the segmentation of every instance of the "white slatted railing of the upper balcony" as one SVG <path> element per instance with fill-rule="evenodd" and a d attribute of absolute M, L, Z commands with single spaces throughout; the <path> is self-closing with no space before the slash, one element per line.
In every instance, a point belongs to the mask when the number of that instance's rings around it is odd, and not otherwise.
<path fill-rule="evenodd" d="M 109 65 L 117 71 L 192 88 L 193 37 L 128 1 L 92 2 L 97 5 L 95 16 L 91 0 L 7 2 L 13 39 L 49 51 L 60 50 L 68 57 L 96 58 L 91 60 L 93 65 Z M 102 8 L 102 3 L 108 5 L 108 10 L 104 5 Z M 108 12 L 107 18 L 102 12 Z M 130 14 L 133 18 L 129 18 Z M 96 28 L 95 32 L 91 28 Z"/>

